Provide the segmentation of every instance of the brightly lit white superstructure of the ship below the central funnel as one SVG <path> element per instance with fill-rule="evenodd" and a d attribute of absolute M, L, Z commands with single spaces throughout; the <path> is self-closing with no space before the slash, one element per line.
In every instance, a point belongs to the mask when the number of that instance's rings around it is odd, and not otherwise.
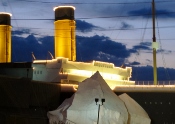
<path fill-rule="evenodd" d="M 47 65 L 47 71 L 43 66 L 40 65 Z M 33 80 L 40 80 L 40 81 L 54 81 L 54 82 L 61 82 L 61 83 L 78 83 L 82 82 L 86 78 L 91 77 L 94 73 L 99 71 L 103 79 L 107 82 L 107 84 L 113 89 L 116 84 L 120 85 L 134 85 L 134 81 L 130 81 L 132 68 L 120 68 L 115 67 L 114 64 L 108 62 L 100 62 L 100 61 L 92 61 L 91 63 L 85 62 L 74 62 L 69 61 L 68 58 L 64 57 L 57 57 L 56 59 L 52 60 L 34 60 L 33 66 L 35 71 L 40 72 L 43 71 L 43 74 L 49 74 L 48 79 L 45 79 L 42 75 L 38 75 L 33 73 Z M 55 71 L 54 68 L 58 68 L 58 71 Z M 54 69 L 55 73 L 51 71 Z M 50 72 L 48 72 L 50 70 Z M 64 79 L 57 79 L 57 76 L 66 77 Z"/>

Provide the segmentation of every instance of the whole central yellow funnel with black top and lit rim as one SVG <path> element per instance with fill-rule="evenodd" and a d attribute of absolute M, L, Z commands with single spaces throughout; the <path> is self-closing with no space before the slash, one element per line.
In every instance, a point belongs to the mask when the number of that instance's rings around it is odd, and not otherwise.
<path fill-rule="evenodd" d="M 58 6 L 55 11 L 55 58 L 76 60 L 75 20 L 73 6 Z"/>

